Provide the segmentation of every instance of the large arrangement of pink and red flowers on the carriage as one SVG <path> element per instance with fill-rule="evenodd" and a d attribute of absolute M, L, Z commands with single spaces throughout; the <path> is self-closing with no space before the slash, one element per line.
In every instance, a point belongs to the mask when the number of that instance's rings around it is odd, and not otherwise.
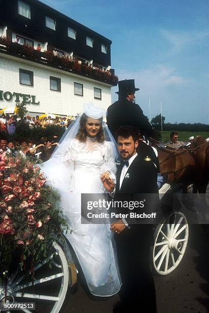
<path fill-rule="evenodd" d="M 55 242 L 66 225 L 59 200 L 35 161 L 0 154 L 0 303 L 9 295 L 41 299 L 34 295 L 34 285 L 64 277 L 63 263 L 54 258 Z M 62 275 L 40 278 L 37 270 L 44 264 L 44 273 L 56 265 Z M 30 285 L 31 296 L 24 290 Z"/>

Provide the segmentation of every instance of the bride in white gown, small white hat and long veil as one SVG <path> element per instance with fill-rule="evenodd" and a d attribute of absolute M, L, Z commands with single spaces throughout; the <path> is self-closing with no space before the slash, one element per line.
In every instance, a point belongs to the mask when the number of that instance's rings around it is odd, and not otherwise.
<path fill-rule="evenodd" d="M 102 183 L 109 179 L 115 182 L 115 157 L 113 142 L 105 140 L 102 110 L 89 105 L 66 131 L 52 158 L 43 164 L 47 179 L 61 195 L 61 206 L 71 230 L 66 238 L 90 292 L 96 296 L 116 294 L 121 282 L 110 225 L 81 223 L 81 194 L 104 193 Z"/>

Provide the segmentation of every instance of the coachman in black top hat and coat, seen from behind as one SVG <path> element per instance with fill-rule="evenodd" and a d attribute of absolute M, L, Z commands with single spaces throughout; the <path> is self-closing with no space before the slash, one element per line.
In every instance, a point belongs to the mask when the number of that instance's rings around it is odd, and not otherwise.
<path fill-rule="evenodd" d="M 109 106 L 107 110 L 107 123 L 113 137 L 116 138 L 116 130 L 122 125 L 137 127 L 142 135 L 150 137 L 153 129 L 144 116 L 142 109 L 134 102 L 135 88 L 134 79 L 125 79 L 118 82 L 118 101 Z"/>

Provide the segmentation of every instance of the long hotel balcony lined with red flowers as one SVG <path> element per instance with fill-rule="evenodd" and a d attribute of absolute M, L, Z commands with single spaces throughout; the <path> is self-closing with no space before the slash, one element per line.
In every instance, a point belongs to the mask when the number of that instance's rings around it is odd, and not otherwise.
<path fill-rule="evenodd" d="M 51 68 L 95 79 L 110 85 L 116 86 L 118 83 L 118 77 L 109 71 L 93 69 L 90 65 L 79 64 L 79 62 L 71 61 L 69 58 L 54 56 L 54 54 L 49 51 L 39 52 L 34 50 L 31 46 L 22 46 L 21 44 L 11 42 L 6 37 L 0 37 L 0 52 L 47 65 Z"/>

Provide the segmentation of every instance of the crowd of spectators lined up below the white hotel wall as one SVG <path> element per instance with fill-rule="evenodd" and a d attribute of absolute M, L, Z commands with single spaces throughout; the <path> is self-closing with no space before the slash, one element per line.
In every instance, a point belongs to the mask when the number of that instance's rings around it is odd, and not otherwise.
<path fill-rule="evenodd" d="M 38 115 L 36 117 L 31 117 L 30 115 L 27 115 L 23 118 L 23 122 L 25 124 L 28 124 L 30 128 L 34 127 L 41 127 L 46 128 L 48 125 L 57 125 L 62 128 L 67 129 L 69 125 L 72 123 L 72 121 L 75 119 L 74 117 L 67 118 L 59 117 L 59 116 L 53 116 L 55 118 L 51 118 L 51 116 L 46 117 L 39 117 Z M 17 117 L 17 115 L 9 115 L 9 114 L 2 114 L 0 118 L 0 131 L 8 133 L 9 135 L 13 135 L 16 131 L 16 125 L 20 119 Z"/>

